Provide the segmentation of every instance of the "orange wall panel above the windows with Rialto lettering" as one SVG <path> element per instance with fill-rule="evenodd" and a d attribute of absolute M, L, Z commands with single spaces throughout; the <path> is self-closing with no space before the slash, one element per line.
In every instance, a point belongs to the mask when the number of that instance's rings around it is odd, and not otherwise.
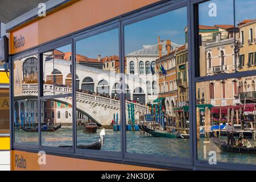
<path fill-rule="evenodd" d="M 118 15 L 160 0 L 80 0 L 36 22 L 10 32 L 10 53 L 38 46 Z M 14 37 L 23 35 L 25 45 L 14 49 Z"/>

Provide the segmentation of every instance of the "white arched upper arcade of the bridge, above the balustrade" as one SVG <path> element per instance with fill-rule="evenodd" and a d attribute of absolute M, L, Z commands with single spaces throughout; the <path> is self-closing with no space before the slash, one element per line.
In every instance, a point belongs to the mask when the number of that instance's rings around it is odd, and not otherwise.
<path fill-rule="evenodd" d="M 53 73 L 55 73 L 56 80 L 61 80 L 61 84 L 68 85 L 71 82 L 70 66 L 71 62 L 68 60 L 55 59 L 54 64 L 52 61 L 46 61 L 44 80 L 52 79 Z M 120 75 L 113 71 L 104 71 L 103 69 L 76 64 L 76 85 L 77 88 L 82 90 L 105 93 L 113 97 L 115 94 L 118 95 L 120 90 L 119 77 Z M 156 76 L 153 77 L 155 77 L 155 80 L 157 79 Z M 127 98 L 139 100 L 143 103 L 149 101 L 146 81 L 141 77 L 126 74 L 125 82 Z"/>

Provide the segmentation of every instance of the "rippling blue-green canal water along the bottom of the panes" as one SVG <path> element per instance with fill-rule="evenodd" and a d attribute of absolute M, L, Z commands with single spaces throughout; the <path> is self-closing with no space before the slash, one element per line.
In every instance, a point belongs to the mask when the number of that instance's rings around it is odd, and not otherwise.
<path fill-rule="evenodd" d="M 105 144 L 101 148 L 104 151 L 121 151 L 121 132 L 105 129 Z M 100 129 L 95 134 L 86 134 L 82 132 L 82 127 L 77 127 L 77 144 L 88 145 L 97 142 L 100 139 Z M 152 137 L 143 134 L 140 131 L 126 131 L 127 152 L 148 155 L 177 156 L 180 158 L 189 158 L 189 139 L 170 139 L 162 137 Z M 222 138 L 226 139 L 226 138 Z M 250 140 L 252 145 L 256 144 Z M 15 142 L 38 144 L 38 133 L 30 133 L 19 128 L 15 129 Z M 42 132 L 42 145 L 60 146 L 72 145 L 72 127 L 62 126 L 55 132 Z M 205 146 L 205 147 L 204 147 Z M 205 150 L 204 150 L 205 148 Z M 197 143 L 197 158 L 208 162 L 209 152 L 216 151 L 217 163 L 245 163 L 256 164 L 256 155 L 252 154 L 233 154 L 221 152 L 214 143 L 207 138 L 200 138 Z"/>

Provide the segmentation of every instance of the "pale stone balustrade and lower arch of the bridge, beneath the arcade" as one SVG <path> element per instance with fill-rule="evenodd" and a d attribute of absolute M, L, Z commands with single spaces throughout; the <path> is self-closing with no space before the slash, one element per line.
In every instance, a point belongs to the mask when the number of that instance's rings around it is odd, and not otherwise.
<path fill-rule="evenodd" d="M 44 92 L 52 93 L 54 90 L 55 94 L 65 94 L 72 93 L 71 88 L 53 86 L 53 85 L 44 85 Z M 22 96 L 16 96 L 15 100 L 24 98 L 35 98 L 38 96 L 38 85 L 37 84 L 23 84 L 22 85 Z M 72 105 L 72 97 L 65 98 L 55 98 L 56 102 L 61 102 L 63 104 Z M 109 125 L 113 114 L 118 113 L 120 109 L 120 102 L 112 98 L 94 96 L 92 94 L 86 94 L 82 92 L 76 92 L 76 107 L 77 111 L 88 115 L 93 121 L 100 123 L 101 125 Z M 126 113 L 127 113 L 127 104 L 131 102 L 126 101 Z M 141 104 L 134 104 L 134 111 L 136 118 L 139 117 L 139 112 L 146 113 L 147 106 Z M 119 115 L 120 117 L 120 115 Z"/>

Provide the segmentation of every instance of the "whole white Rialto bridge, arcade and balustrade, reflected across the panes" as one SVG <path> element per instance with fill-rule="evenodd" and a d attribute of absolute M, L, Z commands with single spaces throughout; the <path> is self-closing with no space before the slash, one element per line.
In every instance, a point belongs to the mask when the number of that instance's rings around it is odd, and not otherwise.
<path fill-rule="evenodd" d="M 47 61 L 45 66 L 45 80 L 47 80 L 47 76 L 52 75 L 53 68 L 52 61 Z M 91 89 L 91 91 L 97 92 L 104 92 L 109 93 L 110 96 L 117 96 L 119 93 L 119 84 L 117 84 L 117 80 L 119 80 L 119 76 L 116 73 L 111 73 L 109 71 L 103 71 L 102 69 L 86 67 L 84 65 L 76 65 L 76 84 L 79 86 L 79 89 Z M 56 60 L 54 61 L 54 69 L 55 73 L 58 76 L 63 78 L 63 84 L 67 82 L 71 82 L 70 75 L 70 62 L 66 60 Z M 60 74 L 61 73 L 61 74 Z M 55 76 L 57 76 L 55 75 Z M 80 78 L 82 78 L 82 82 L 80 82 Z M 86 81 L 90 82 L 86 82 Z M 101 85 L 101 83 L 104 83 Z M 118 85 L 118 86 L 117 86 Z M 112 89 L 110 89 L 112 88 Z M 133 90 L 131 93 L 130 90 Z M 146 84 L 141 79 L 136 78 L 135 76 L 131 76 L 127 78 L 125 92 L 126 97 L 129 98 L 139 98 L 142 100 L 144 97 L 144 102 L 147 102 L 147 93 L 144 93 L 146 89 Z M 67 94 L 72 93 L 72 89 L 66 86 L 53 86 L 51 84 L 44 84 L 43 86 L 44 96 L 50 96 L 53 94 Z M 130 96 L 129 96 L 130 94 Z M 19 107 L 19 115 L 20 110 L 23 104 L 23 114 L 24 114 L 24 107 L 27 107 L 27 110 L 31 110 L 30 104 L 28 106 L 24 106 L 25 99 L 27 101 L 33 101 L 38 96 L 38 84 L 22 84 L 22 94 L 16 94 L 15 100 L 17 102 L 17 107 Z M 72 105 L 72 97 L 65 97 L 65 98 L 55 98 L 56 102 L 60 102 L 63 104 Z M 101 125 L 109 125 L 111 120 L 113 119 L 113 115 L 118 113 L 118 118 L 120 118 L 120 102 L 118 100 L 114 100 L 108 97 L 96 96 L 93 94 L 87 94 L 83 92 L 76 92 L 76 110 L 77 113 L 82 113 L 93 121 L 100 123 Z M 131 104 L 131 102 L 126 101 L 126 115 L 127 115 L 127 104 Z M 25 104 L 26 105 L 26 104 Z M 33 108 L 35 108 L 33 106 Z M 65 115 L 64 108 L 63 113 L 61 115 Z M 71 108 L 69 108 L 69 113 L 71 112 Z M 141 104 L 134 104 L 135 110 L 135 118 L 139 118 L 139 114 L 146 113 L 148 108 L 145 105 Z M 28 112 L 28 111 L 27 111 Z M 31 112 L 31 111 L 30 111 Z M 33 113 L 37 113 L 36 109 L 34 109 Z M 43 113 L 43 112 L 42 112 Z M 43 114 L 42 114 L 43 116 Z M 35 118 L 34 114 L 34 121 L 36 122 L 37 119 Z M 126 119 L 127 121 L 127 119 Z M 71 119 L 66 119 L 66 121 L 57 119 L 56 122 L 71 122 Z"/>

